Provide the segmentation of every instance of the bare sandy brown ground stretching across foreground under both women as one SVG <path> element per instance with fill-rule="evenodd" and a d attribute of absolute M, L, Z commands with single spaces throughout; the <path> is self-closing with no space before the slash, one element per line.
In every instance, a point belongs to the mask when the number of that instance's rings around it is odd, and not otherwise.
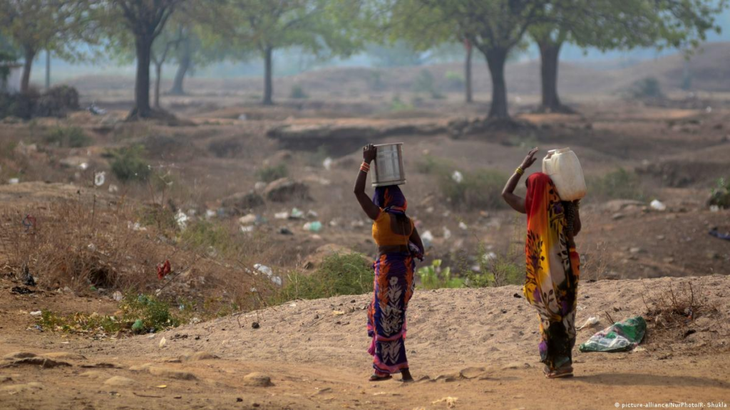
<path fill-rule="evenodd" d="M 49 303 L 71 309 L 65 299 L 72 296 L 46 300 L 13 295 L 14 300 L 8 298 L 0 307 L 0 354 L 55 352 L 53 360 L 70 366 L 0 368 L 0 408 L 615 409 L 615 403 L 648 401 L 730 405 L 730 277 L 585 283 L 578 322 L 601 314 L 602 327 L 607 322 L 602 312 L 615 320 L 645 312 L 642 294 L 651 303 L 669 285 L 679 290 L 683 283 L 691 283 L 697 297 L 714 308 L 689 325 L 695 333 L 672 341 L 650 333 L 635 352 L 585 354 L 576 349 L 575 378 L 553 381 L 541 374 L 537 320 L 524 299 L 515 297 L 518 287 L 419 292 L 409 310 L 407 341 L 419 382 L 407 385 L 366 381 L 369 356 L 361 310 L 366 295 L 296 301 L 119 341 L 26 330 L 32 320 L 20 311 Z M 76 299 L 80 305 L 105 309 L 99 301 Z M 259 328 L 252 328 L 254 321 Z M 579 343 L 593 331 L 580 330 Z M 162 337 L 164 348 L 159 347 Z M 191 360 L 191 352 L 217 358 Z M 252 372 L 268 376 L 273 385 L 255 385 L 245 377 Z"/>

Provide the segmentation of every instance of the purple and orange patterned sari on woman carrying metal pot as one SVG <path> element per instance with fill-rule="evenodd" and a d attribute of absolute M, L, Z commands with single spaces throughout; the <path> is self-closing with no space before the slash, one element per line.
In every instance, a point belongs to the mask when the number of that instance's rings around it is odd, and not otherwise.
<path fill-rule="evenodd" d="M 391 230 L 390 217 L 383 217 L 384 212 L 393 217 L 396 214 L 405 215 L 407 204 L 397 186 L 378 187 L 373 202 L 382 209 L 381 217 L 374 223 L 377 224 L 374 228 L 381 233 L 383 230 Z M 409 236 L 401 236 L 407 249 Z M 367 322 L 368 336 L 372 338 L 372 343 L 368 352 L 373 356 L 375 373 L 384 376 L 408 368 L 404 344 L 406 310 L 415 286 L 415 260 L 411 252 L 388 253 L 380 255 L 375 261 L 374 270 L 374 293 Z"/>

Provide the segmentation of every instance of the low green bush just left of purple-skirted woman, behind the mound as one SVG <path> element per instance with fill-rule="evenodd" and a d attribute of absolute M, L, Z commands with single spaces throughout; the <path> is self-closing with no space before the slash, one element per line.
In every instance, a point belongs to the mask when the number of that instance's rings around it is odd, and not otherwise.
<path fill-rule="evenodd" d="M 372 265 L 358 253 L 331 255 L 312 274 L 293 272 L 274 295 L 274 303 L 372 292 Z"/>

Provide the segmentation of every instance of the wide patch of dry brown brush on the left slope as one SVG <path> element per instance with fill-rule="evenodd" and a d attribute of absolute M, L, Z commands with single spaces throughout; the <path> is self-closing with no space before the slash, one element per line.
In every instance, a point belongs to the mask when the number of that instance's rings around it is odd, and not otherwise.
<path fill-rule="evenodd" d="M 157 293 L 165 300 L 185 298 L 199 307 L 218 298 L 221 304 L 255 309 L 261 304 L 258 293 L 273 289 L 246 268 L 249 239 L 237 247 L 242 250 L 239 255 L 210 252 L 207 246 L 180 240 L 180 232 L 139 224 L 135 204 L 80 195 L 37 206 L 27 215 L 27 210 L 2 215 L 0 247 L 7 258 L 3 264 L 17 276 L 28 268 L 39 286 L 50 290 L 68 286 L 80 293 Z M 172 273 L 158 279 L 157 266 L 165 260 L 172 263 Z M 252 293 L 253 287 L 257 292 Z"/>

